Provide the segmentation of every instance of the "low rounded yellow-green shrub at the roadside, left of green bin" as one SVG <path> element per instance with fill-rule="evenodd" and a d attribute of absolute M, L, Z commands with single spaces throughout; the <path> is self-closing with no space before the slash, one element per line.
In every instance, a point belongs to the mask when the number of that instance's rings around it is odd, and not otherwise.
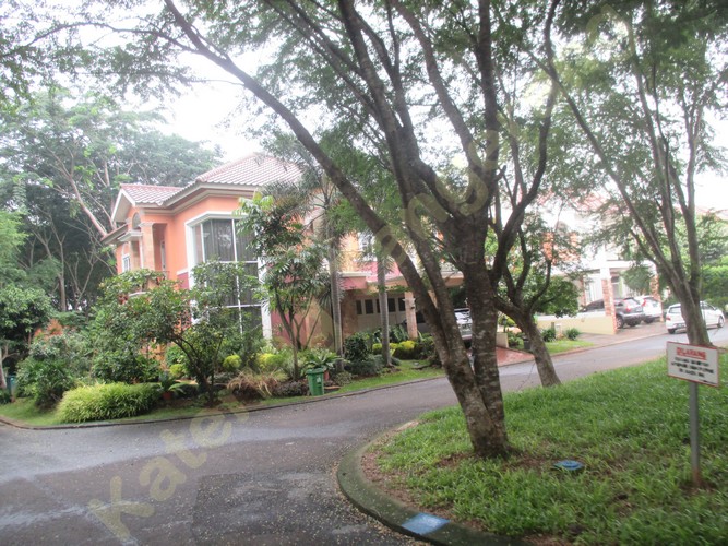
<path fill-rule="evenodd" d="M 120 419 L 150 412 L 158 400 L 158 387 L 152 383 L 80 387 L 63 395 L 58 416 L 64 423 Z"/>

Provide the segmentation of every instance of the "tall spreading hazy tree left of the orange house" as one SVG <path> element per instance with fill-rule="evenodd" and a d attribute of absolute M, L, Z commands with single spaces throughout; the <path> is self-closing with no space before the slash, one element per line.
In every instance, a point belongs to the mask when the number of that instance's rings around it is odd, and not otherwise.
<path fill-rule="evenodd" d="M 57 87 L 0 108 L 0 199 L 23 215 L 29 237 L 21 261 L 28 272 L 51 274 L 60 310 L 87 309 L 112 271 L 100 241 L 116 227 L 120 183 L 184 185 L 217 157 L 163 134 L 160 121 Z"/>

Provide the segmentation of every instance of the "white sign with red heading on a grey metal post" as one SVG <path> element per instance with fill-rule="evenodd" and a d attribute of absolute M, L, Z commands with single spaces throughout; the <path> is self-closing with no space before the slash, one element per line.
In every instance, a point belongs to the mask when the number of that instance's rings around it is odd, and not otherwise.
<path fill-rule="evenodd" d="M 701 478 L 700 419 L 697 412 L 697 385 L 718 387 L 718 349 L 668 342 L 667 375 L 690 381 L 690 464 L 693 471 L 693 484 L 699 486 Z"/>

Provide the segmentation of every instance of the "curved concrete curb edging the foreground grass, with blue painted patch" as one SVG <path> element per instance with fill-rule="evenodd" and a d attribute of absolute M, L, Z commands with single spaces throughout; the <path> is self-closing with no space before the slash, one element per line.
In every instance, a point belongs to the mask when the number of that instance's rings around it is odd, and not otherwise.
<path fill-rule="evenodd" d="M 361 458 L 382 436 L 347 453 L 336 472 L 339 489 L 359 510 L 398 533 L 431 544 L 447 546 L 528 544 L 514 538 L 482 533 L 433 514 L 419 512 L 386 495 L 367 479 L 361 468 Z"/>

